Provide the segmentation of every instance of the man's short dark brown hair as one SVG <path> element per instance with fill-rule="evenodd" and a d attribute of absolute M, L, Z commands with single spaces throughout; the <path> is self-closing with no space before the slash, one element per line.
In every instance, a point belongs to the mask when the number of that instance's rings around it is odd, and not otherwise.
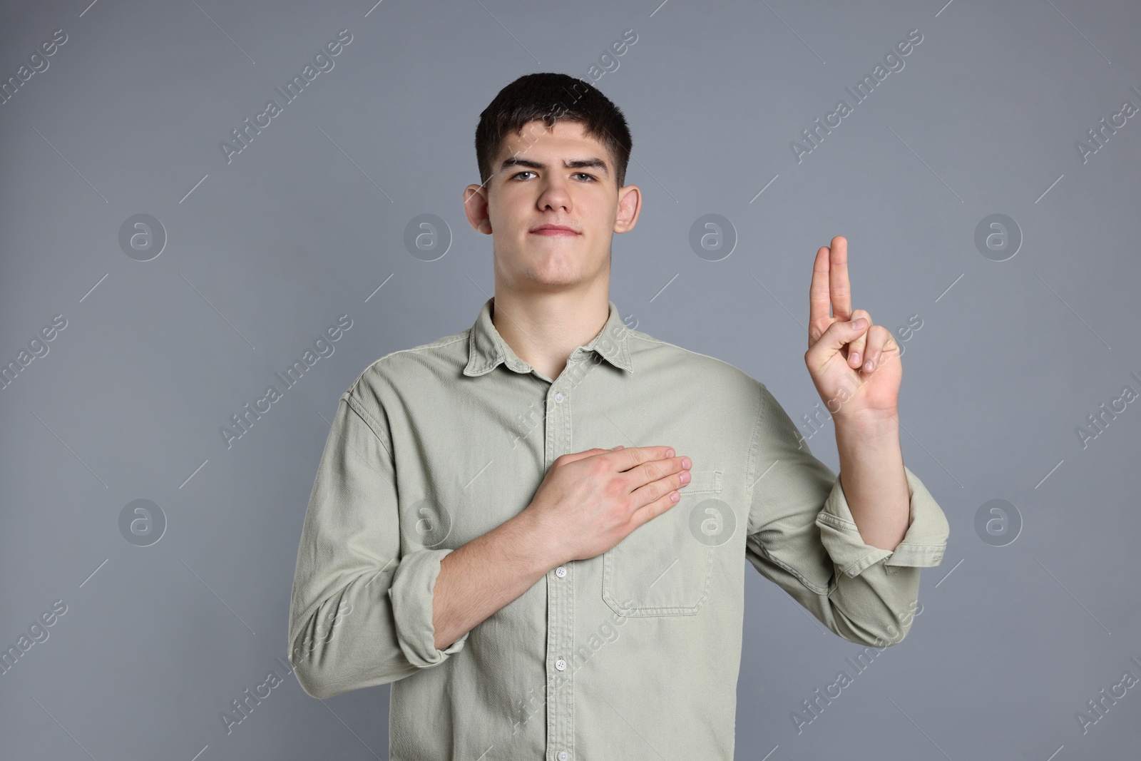
<path fill-rule="evenodd" d="M 626 118 L 593 84 L 552 72 L 520 76 L 500 90 L 479 114 L 476 161 L 483 184 L 492 178 L 492 162 L 503 138 L 521 133 L 529 121 L 542 120 L 553 127 L 557 119 L 581 123 L 588 136 L 606 147 L 614 163 L 614 179 L 622 187 L 633 147 Z"/>

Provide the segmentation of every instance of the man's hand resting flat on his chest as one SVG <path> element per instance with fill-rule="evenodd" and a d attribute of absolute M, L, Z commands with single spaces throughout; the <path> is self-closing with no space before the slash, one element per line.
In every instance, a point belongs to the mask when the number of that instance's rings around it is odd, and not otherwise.
<path fill-rule="evenodd" d="M 567 453 L 551 464 L 520 517 L 542 526 L 558 562 L 586 560 L 677 504 L 691 467 L 667 446 Z"/>

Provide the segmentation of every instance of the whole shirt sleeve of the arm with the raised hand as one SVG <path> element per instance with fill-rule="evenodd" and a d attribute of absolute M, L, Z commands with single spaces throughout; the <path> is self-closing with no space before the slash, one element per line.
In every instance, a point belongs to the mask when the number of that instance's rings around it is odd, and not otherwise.
<path fill-rule="evenodd" d="M 811 453 L 769 390 L 758 387 L 746 467 L 748 561 L 840 637 L 875 647 L 903 641 L 915 614 L 920 568 L 942 560 L 946 516 L 905 467 L 907 533 L 895 550 L 866 544 L 840 478 Z"/>

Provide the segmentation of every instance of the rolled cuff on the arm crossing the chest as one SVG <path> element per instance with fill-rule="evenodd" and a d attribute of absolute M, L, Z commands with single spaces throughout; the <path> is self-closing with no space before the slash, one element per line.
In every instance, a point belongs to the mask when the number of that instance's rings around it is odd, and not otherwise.
<path fill-rule="evenodd" d="M 471 631 L 446 649 L 436 647 L 432 625 L 432 591 L 439 576 L 439 564 L 451 549 L 416 550 L 400 559 L 388 597 L 393 604 L 396 639 L 408 662 L 421 669 L 434 666 L 463 649 Z"/>

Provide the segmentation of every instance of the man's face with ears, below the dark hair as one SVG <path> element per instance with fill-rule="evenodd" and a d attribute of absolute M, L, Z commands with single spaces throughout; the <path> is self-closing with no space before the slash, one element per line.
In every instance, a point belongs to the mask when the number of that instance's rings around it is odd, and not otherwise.
<path fill-rule="evenodd" d="M 633 228 L 640 209 L 636 186 L 617 187 L 602 144 L 561 120 L 504 138 L 492 178 L 464 197 L 471 226 L 494 236 L 496 284 L 519 291 L 608 277 L 610 237 Z"/>

